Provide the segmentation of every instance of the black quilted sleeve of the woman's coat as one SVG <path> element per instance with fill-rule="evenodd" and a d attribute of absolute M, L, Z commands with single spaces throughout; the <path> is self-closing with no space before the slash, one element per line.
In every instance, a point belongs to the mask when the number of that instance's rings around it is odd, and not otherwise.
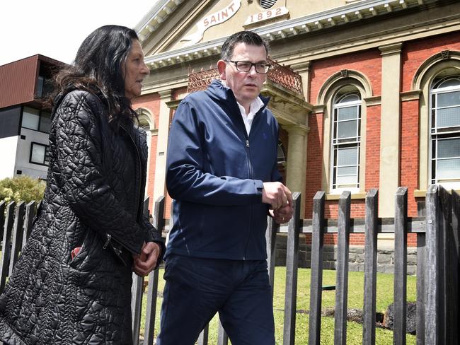
<path fill-rule="evenodd" d="M 146 229 L 119 204 L 102 171 L 100 100 L 91 93 L 66 95 L 54 115 L 57 167 L 64 197 L 86 226 L 109 233 L 133 254 L 141 251 Z"/>

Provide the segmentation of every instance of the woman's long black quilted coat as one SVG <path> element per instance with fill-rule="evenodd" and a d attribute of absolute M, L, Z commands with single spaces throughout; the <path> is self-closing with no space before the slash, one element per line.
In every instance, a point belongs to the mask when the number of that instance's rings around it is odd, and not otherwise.
<path fill-rule="evenodd" d="M 103 103 L 86 91 L 56 103 L 45 198 L 0 296 L 0 339 L 132 344 L 132 256 L 123 265 L 103 238 L 109 233 L 132 254 L 144 241 L 161 242 L 142 216 L 146 136 L 133 127 L 113 131 Z M 72 259 L 75 247 L 82 249 Z"/>

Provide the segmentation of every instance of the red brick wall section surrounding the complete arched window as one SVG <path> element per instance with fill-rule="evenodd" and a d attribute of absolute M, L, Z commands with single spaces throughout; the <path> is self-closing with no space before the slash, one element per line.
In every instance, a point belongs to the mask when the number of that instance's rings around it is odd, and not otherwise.
<path fill-rule="evenodd" d="M 310 102 L 316 104 L 318 93 L 330 76 L 342 69 L 367 76 L 374 95 L 381 93 L 381 56 L 378 49 L 323 59 L 311 64 Z M 305 218 L 311 218 L 313 197 L 321 190 L 323 178 L 323 114 L 310 115 L 306 165 Z M 379 187 L 380 106 L 367 108 L 365 188 Z M 352 200 L 352 218 L 364 218 L 365 202 Z M 338 200 L 326 201 L 326 218 L 338 218 Z M 307 239 L 307 242 L 311 240 Z M 337 235 L 328 234 L 325 244 L 336 244 Z M 364 234 L 351 234 L 350 244 L 364 245 Z"/>

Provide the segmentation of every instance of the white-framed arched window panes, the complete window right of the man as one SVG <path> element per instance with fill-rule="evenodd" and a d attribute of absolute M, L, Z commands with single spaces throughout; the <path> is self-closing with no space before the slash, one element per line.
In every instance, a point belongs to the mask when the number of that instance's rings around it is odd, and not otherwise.
<path fill-rule="evenodd" d="M 330 188 L 360 189 L 361 95 L 353 86 L 341 88 L 333 100 Z"/>

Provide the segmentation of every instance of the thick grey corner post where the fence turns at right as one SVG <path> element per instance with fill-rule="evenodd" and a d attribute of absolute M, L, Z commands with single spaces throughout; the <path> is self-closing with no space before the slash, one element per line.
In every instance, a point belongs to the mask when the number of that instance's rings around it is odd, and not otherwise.
<path fill-rule="evenodd" d="M 426 313 L 425 344 L 444 345 L 444 307 L 441 294 L 444 292 L 442 278 L 444 265 L 442 262 L 441 210 L 439 187 L 430 185 L 427 189 L 427 235 L 426 235 Z"/>

